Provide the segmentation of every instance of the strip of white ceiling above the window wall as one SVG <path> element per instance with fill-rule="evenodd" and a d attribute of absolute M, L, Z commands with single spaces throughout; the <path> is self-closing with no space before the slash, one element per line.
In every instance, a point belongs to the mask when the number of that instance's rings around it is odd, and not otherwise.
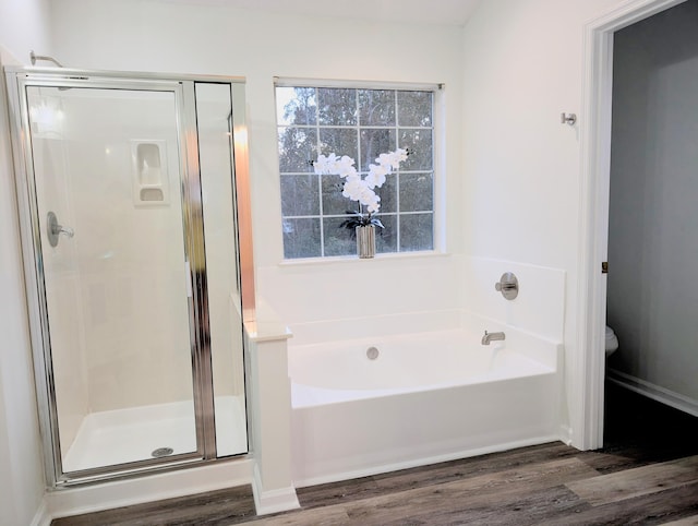
<path fill-rule="evenodd" d="M 170 0 L 171 1 L 171 0 Z M 174 0 L 178 1 L 178 0 Z M 179 0 L 191 3 L 196 0 Z M 233 8 L 462 26 L 482 0 L 198 0 Z"/>

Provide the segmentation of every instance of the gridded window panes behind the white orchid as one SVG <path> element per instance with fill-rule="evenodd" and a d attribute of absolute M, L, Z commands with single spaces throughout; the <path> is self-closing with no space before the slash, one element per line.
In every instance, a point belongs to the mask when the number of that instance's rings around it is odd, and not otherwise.
<path fill-rule="evenodd" d="M 356 201 L 342 196 L 344 180 L 316 175 L 320 154 L 347 155 L 365 175 L 375 158 L 396 148 L 410 154 L 376 193 L 376 252 L 434 248 L 434 125 L 432 89 L 370 89 L 282 85 L 276 87 L 284 255 L 286 259 L 356 254 L 341 228 Z"/>

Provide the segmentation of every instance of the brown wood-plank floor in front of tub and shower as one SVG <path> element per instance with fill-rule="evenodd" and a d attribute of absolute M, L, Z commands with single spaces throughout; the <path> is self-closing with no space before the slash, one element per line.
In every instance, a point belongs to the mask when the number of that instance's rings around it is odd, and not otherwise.
<path fill-rule="evenodd" d="M 698 525 L 698 418 L 606 387 L 603 450 L 563 443 L 300 488 L 254 515 L 249 487 L 55 519 L 116 525 Z"/>

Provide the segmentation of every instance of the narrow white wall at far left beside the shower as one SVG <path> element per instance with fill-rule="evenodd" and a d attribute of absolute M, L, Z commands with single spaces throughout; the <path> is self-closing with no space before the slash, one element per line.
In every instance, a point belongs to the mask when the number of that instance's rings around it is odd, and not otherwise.
<path fill-rule="evenodd" d="M 36 46 L 50 52 L 46 0 L 0 1 L 0 62 L 28 62 Z M 4 79 L 0 88 L 0 524 L 32 524 L 44 495 L 41 447 Z"/>

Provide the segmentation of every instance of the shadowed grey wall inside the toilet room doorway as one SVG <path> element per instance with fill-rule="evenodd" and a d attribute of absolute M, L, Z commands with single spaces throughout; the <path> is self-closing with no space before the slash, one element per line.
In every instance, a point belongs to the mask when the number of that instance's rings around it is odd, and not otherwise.
<path fill-rule="evenodd" d="M 609 366 L 698 408 L 698 2 L 614 43 Z"/>

